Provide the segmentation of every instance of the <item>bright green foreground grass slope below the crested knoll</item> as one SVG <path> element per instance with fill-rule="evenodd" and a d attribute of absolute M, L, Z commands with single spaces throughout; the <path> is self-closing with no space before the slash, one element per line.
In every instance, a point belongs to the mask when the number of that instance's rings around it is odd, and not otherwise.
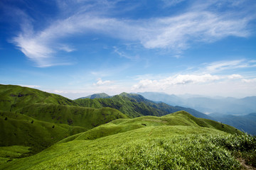
<path fill-rule="evenodd" d="M 240 169 L 222 142 L 232 137 L 211 128 L 151 126 L 58 143 L 0 169 Z"/>

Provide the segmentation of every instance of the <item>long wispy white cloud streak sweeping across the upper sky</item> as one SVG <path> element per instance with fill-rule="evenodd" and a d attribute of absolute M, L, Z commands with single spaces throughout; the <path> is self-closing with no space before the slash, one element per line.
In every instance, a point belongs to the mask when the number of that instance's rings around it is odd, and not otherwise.
<path fill-rule="evenodd" d="M 107 35 L 117 40 L 139 43 L 146 49 L 171 49 L 179 54 L 193 43 L 215 42 L 228 36 L 245 38 L 250 35 L 248 24 L 253 19 L 246 12 L 241 12 L 238 16 L 234 11 L 210 11 L 208 8 L 213 3 L 203 3 L 205 6 L 199 10 L 188 8 L 174 16 L 119 18 L 117 11 L 113 10 L 116 14 L 109 14 L 117 2 L 104 1 L 105 8 L 100 5 L 100 1 L 65 1 L 62 5 L 58 3 L 63 11 L 67 6 L 70 10 L 60 13 L 58 19 L 37 30 L 32 22 L 25 22 L 29 19 L 23 20 L 23 29 L 11 42 L 35 62 L 37 67 L 50 67 L 70 63 L 61 60 L 59 52 L 78 50 L 69 42 L 63 42 L 65 38 L 88 34 Z M 169 2 L 173 4 L 179 1 Z M 77 8 L 72 11 L 72 6 Z M 29 16 L 24 15 L 23 18 Z"/>

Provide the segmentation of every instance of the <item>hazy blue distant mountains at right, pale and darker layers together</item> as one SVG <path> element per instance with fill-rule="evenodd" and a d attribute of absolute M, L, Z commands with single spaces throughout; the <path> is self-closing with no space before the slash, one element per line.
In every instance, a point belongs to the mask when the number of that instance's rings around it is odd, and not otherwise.
<path fill-rule="evenodd" d="M 243 132 L 256 135 L 256 96 L 245 98 L 207 98 L 176 96 L 157 92 L 139 93 L 153 101 L 189 107 L 208 114 L 209 119 L 232 125 Z"/>

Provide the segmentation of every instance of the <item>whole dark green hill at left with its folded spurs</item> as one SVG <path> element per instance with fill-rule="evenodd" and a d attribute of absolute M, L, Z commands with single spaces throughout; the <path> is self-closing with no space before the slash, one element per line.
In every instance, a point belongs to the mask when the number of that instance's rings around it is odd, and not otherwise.
<path fill-rule="evenodd" d="M 114 108 L 80 107 L 63 96 L 28 87 L 0 85 L 0 147 L 22 145 L 34 154 L 117 118 L 127 115 Z"/>

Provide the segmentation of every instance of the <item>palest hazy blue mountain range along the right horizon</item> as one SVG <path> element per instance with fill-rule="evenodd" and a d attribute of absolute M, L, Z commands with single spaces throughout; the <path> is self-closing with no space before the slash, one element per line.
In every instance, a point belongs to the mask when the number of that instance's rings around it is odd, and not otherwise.
<path fill-rule="evenodd" d="M 171 106 L 183 106 L 202 113 L 221 113 L 228 115 L 246 115 L 256 112 L 256 96 L 245 98 L 209 98 L 203 96 L 176 96 L 158 92 L 138 93 L 152 101 L 162 101 Z"/>

